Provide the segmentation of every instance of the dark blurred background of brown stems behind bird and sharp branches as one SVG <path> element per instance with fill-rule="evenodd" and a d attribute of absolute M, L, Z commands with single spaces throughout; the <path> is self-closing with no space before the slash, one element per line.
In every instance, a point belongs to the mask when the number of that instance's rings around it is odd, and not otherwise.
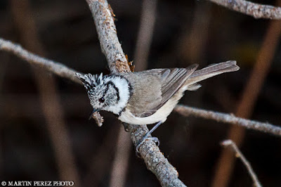
<path fill-rule="evenodd" d="M 202 82 L 180 103 L 281 124 L 280 22 L 256 20 L 209 1 L 109 3 L 119 41 L 136 70 L 237 60 L 238 72 Z M 110 72 L 83 0 L 1 0 L 0 37 L 80 72 Z M 88 120 L 90 113 L 83 86 L 0 51 L 0 180 L 160 186 L 115 116 L 101 112 L 105 122 L 98 127 Z M 241 146 L 264 186 L 280 186 L 280 137 L 176 112 L 153 136 L 187 186 L 251 186 L 244 165 L 220 146 L 226 138 Z M 120 148 L 126 150 L 117 157 Z"/>

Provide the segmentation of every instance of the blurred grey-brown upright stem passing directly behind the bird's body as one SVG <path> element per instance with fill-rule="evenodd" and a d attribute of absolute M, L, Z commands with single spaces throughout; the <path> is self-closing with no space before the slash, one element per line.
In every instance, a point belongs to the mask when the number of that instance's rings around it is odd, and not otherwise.
<path fill-rule="evenodd" d="M 141 8 L 141 22 L 136 39 L 136 49 L 134 53 L 135 70 L 143 71 L 147 69 L 148 53 L 152 41 L 153 27 L 155 25 L 157 0 L 144 0 Z M 120 126 L 118 140 L 116 143 L 115 159 L 112 164 L 110 177 L 110 187 L 124 186 L 126 173 L 129 166 L 129 157 L 132 143 L 130 137 Z M 122 167 L 120 167 L 122 166 Z"/>

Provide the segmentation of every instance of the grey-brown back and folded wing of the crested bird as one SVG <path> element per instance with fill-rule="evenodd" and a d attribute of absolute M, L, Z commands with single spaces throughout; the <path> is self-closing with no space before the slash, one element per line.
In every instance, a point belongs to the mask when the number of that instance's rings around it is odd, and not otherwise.
<path fill-rule="evenodd" d="M 154 114 L 185 84 L 186 79 L 196 70 L 197 66 L 153 69 L 135 72 L 133 76 L 125 75 L 134 85 L 138 84 L 138 86 L 134 86 L 135 91 L 129 102 L 131 112 L 137 117 L 148 117 Z"/>

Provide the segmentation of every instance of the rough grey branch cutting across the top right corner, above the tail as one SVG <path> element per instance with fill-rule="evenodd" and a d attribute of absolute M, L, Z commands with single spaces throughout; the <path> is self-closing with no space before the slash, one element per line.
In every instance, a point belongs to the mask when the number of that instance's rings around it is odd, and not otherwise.
<path fill-rule="evenodd" d="M 255 4 L 244 0 L 209 0 L 215 4 L 225 6 L 233 11 L 251 15 L 254 18 L 281 19 L 281 8 L 270 5 Z"/>

